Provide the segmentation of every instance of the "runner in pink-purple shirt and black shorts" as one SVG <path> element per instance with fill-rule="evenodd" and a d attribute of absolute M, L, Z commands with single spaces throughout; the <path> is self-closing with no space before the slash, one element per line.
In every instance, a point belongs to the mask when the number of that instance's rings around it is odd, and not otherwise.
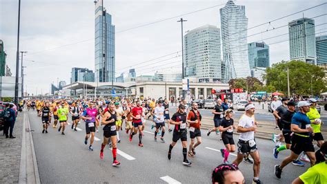
<path fill-rule="evenodd" d="M 91 134 L 91 140 L 90 140 L 90 146 L 88 149 L 90 151 L 93 151 L 93 142 L 95 141 L 95 121 L 97 119 L 97 109 L 95 108 L 95 103 L 90 102 L 90 107 L 86 108 L 83 111 L 83 115 L 81 116 L 83 120 L 85 120 L 85 130 L 86 130 L 86 136 L 84 140 L 84 144 L 88 145 L 88 138 L 90 138 Z"/>

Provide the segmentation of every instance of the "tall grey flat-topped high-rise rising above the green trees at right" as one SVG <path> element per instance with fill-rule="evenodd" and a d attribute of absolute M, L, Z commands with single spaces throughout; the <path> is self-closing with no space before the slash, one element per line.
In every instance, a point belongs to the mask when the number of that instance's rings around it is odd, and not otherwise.
<path fill-rule="evenodd" d="M 288 23 L 290 60 L 316 64 L 315 20 L 296 19 Z"/>

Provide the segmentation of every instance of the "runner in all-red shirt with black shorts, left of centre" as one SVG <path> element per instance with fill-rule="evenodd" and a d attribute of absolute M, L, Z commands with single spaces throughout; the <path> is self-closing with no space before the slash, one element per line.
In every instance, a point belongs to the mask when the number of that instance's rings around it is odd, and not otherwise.
<path fill-rule="evenodd" d="M 143 116 L 142 113 L 142 107 L 141 107 L 141 102 L 137 101 L 137 107 L 134 107 L 131 111 L 131 115 L 133 118 L 133 126 L 134 126 L 134 131 L 130 133 L 130 142 L 132 142 L 132 138 L 135 134 L 137 134 L 137 131 L 139 131 L 139 147 L 143 147 L 142 144 L 142 120 L 141 116 Z"/>

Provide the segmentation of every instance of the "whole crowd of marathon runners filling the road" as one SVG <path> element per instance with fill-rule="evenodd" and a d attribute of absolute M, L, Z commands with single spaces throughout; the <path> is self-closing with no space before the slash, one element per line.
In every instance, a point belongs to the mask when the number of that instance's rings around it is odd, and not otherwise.
<path fill-rule="evenodd" d="M 286 149 L 290 149 L 290 156 L 282 160 L 280 165 L 275 165 L 277 178 L 281 178 L 282 169 L 289 163 L 303 166 L 304 164 L 300 160 L 305 160 L 311 163 L 313 166 L 311 168 L 315 167 L 318 158 L 317 153 L 315 154 L 313 140 L 317 141 L 317 147 L 321 148 L 322 145 L 326 147 L 320 131 L 322 123 L 319 119 L 320 114 L 315 108 L 317 100 L 309 99 L 298 102 L 297 112 L 295 112 L 295 102 L 289 101 L 287 98 L 283 98 L 281 102 L 282 104 L 273 113 L 281 130 L 281 134 L 273 135 L 273 141 L 276 143 L 273 148 L 273 156 L 278 158 L 279 152 Z M 117 142 L 121 142 L 119 134 L 123 132 L 123 128 L 126 134 L 129 134 L 130 142 L 138 137 L 138 145 L 143 147 L 142 137 L 146 119 L 152 120 L 150 123 L 152 124 L 151 129 L 154 129 L 155 141 L 158 141 L 159 138 L 159 141 L 166 142 L 164 137 L 166 131 L 172 131 L 172 141 L 167 149 L 169 160 L 172 158 L 172 149 L 181 140 L 184 156 L 182 163 L 187 166 L 192 165 L 188 157 L 196 156 L 196 148 L 202 141 L 202 117 L 196 102 L 188 105 L 186 100 L 182 100 L 177 104 L 177 111 L 174 110 L 171 113 L 168 100 L 162 98 L 158 100 L 132 100 L 128 98 L 123 100 L 27 100 L 23 104 L 26 105 L 28 111 L 37 110 L 37 116 L 41 117 L 43 134 L 48 134 L 50 122 L 53 120 L 52 128 L 58 129 L 59 134 L 64 136 L 68 121 L 70 121 L 68 120 L 70 114 L 72 117 L 70 128 L 72 130 L 77 131 L 78 126 L 85 126 L 84 143 L 88 145 L 90 151 L 94 151 L 92 145 L 95 140 L 95 132 L 102 128 L 103 142 L 99 157 L 103 159 L 104 148 L 108 145 L 112 150 L 113 166 L 120 165 L 117 160 Z M 170 114 L 172 114 L 171 117 Z M 214 127 L 208 129 L 206 136 L 215 132 L 225 145 L 224 148 L 220 149 L 223 165 L 217 167 L 212 173 L 212 182 L 215 183 L 216 176 L 214 175 L 217 175 L 218 171 L 228 171 L 228 168 L 231 171 L 237 171 L 238 165 L 243 160 L 245 163 L 253 165 L 253 183 L 261 183 L 259 180 L 261 160 L 255 140 L 258 127 L 258 122 L 255 120 L 255 105 L 250 102 L 246 104 L 245 113 L 239 118 L 238 125 L 234 123 L 233 114 L 234 111 L 228 106 L 227 99 L 224 102 L 218 99 L 215 108 L 212 109 Z M 237 142 L 233 138 L 235 131 L 239 133 Z M 190 138 L 189 145 L 188 137 Z M 285 145 L 282 145 L 281 142 L 285 142 Z M 237 151 L 237 158 L 230 162 L 228 156 L 230 152 L 235 151 Z M 326 158 L 326 151 L 324 153 L 323 158 Z M 321 158 L 319 160 L 321 161 Z M 302 177 L 299 176 L 297 179 L 305 183 L 304 181 L 313 177 L 312 175 L 312 173 L 310 176 L 308 174 L 301 175 Z M 319 174 L 316 173 L 316 175 Z M 221 176 L 219 177 L 221 178 Z M 326 179 L 326 173 L 324 177 Z"/>

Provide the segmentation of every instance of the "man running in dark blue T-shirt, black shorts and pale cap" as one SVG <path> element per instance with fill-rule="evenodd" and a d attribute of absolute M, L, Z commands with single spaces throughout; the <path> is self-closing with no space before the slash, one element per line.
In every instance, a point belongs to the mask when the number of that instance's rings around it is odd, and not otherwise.
<path fill-rule="evenodd" d="M 315 148 L 311 140 L 313 128 L 310 126 L 310 119 L 306 116 L 306 113 L 310 111 L 310 105 L 311 104 L 306 101 L 300 101 L 297 104 L 299 112 L 295 113 L 290 125 L 290 130 L 294 132 L 292 145 L 290 147 L 291 153 L 290 156 L 281 162 L 281 165 L 275 165 L 275 175 L 277 178 L 281 178 L 282 169 L 288 165 L 288 163 L 297 159 L 302 151 L 308 155 L 311 166 L 315 165 Z"/>

